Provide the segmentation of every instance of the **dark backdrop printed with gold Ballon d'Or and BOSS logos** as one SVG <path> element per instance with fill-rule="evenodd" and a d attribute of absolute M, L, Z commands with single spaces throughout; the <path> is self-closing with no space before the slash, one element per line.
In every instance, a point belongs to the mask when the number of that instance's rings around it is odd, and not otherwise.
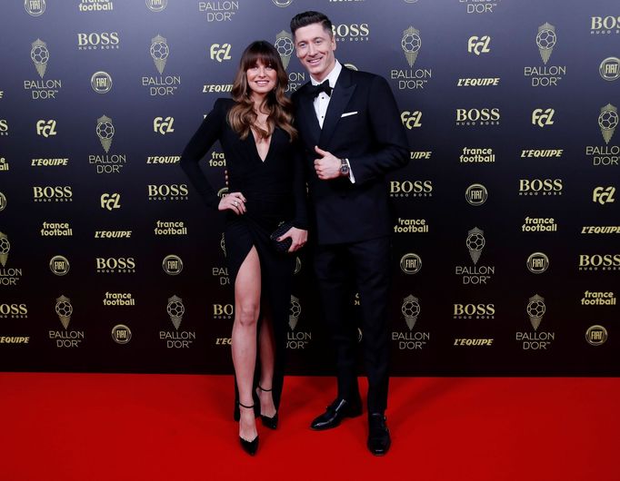
<path fill-rule="evenodd" d="M 385 182 L 395 375 L 619 375 L 616 0 L 2 2 L 0 368 L 232 372 L 223 220 L 179 155 L 251 41 L 309 81 L 307 9 L 388 79 L 411 145 Z M 202 162 L 222 195 L 225 165 Z M 331 366 L 310 266 L 296 374 Z"/>

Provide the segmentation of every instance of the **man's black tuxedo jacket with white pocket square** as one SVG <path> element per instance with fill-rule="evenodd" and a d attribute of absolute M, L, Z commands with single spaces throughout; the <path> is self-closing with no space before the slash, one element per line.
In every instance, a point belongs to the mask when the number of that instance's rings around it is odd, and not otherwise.
<path fill-rule="evenodd" d="M 343 67 L 321 129 L 310 84 L 293 94 L 293 102 L 318 243 L 367 241 L 390 234 L 385 174 L 408 162 L 409 146 L 389 85 L 378 75 Z M 346 177 L 321 181 L 314 168 L 319 158 L 315 145 L 349 159 L 355 183 Z"/>

